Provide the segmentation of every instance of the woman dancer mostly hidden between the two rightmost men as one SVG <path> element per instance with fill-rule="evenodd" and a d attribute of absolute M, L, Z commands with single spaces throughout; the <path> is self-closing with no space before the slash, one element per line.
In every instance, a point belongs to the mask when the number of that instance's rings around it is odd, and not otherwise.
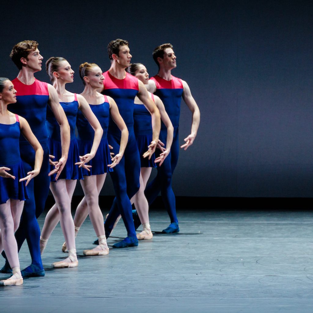
<path fill-rule="evenodd" d="M 128 69 L 128 73 L 137 77 L 145 85 L 148 85 L 149 74 L 146 67 L 141 63 L 131 64 Z M 138 97 L 135 97 L 135 107 L 134 107 L 134 131 L 137 141 L 137 146 L 140 154 L 141 161 L 141 172 L 140 172 L 140 188 L 138 192 L 131 199 L 131 203 L 135 204 L 135 208 L 138 212 L 140 221 L 142 223 L 143 231 L 137 234 L 138 239 L 152 239 L 152 232 L 149 225 L 149 205 L 144 194 L 147 181 L 150 177 L 152 167 L 156 167 L 155 163 L 159 163 L 159 166 L 162 165 L 165 158 L 171 151 L 172 141 L 173 141 L 173 131 L 171 120 L 168 117 L 164 105 L 161 99 L 149 92 L 152 100 L 155 102 L 157 108 L 161 114 L 161 120 L 167 128 L 167 139 L 166 139 L 166 148 L 163 148 L 164 144 L 159 141 L 158 148 L 161 150 L 161 154 L 155 159 L 154 156 L 149 160 L 146 158 L 147 146 L 152 141 L 152 126 L 151 126 L 151 115 L 149 111 L 145 108 L 143 103 L 139 100 Z"/>

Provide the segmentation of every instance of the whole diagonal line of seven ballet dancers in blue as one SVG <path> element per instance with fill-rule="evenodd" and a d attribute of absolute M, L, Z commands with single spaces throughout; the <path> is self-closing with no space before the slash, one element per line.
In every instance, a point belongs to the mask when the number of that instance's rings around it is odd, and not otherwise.
<path fill-rule="evenodd" d="M 13 275 L 0 285 L 21 285 L 23 277 L 45 275 L 41 254 L 58 222 L 68 257 L 54 262 L 55 268 L 78 266 L 75 237 L 88 214 L 98 240 L 85 255 L 109 254 L 106 239 L 120 218 L 127 237 L 114 248 L 152 239 L 148 208 L 160 192 L 171 219 L 162 232 L 179 232 L 171 180 L 179 152 L 181 98 L 192 112 L 191 133 L 181 146 L 185 150 L 197 135 L 200 112 L 187 83 L 171 74 L 176 67 L 172 48 L 162 44 L 153 51 L 159 71 L 149 80 L 143 64 L 130 63 L 128 42 L 113 40 L 108 71 L 95 63 L 80 65 L 85 89 L 78 95 L 65 88 L 74 80 L 66 59 L 47 60 L 50 85 L 34 77 L 43 61 L 38 43 L 25 40 L 13 47 L 10 57 L 18 76 L 0 78 L 0 252 L 5 258 L 0 272 Z M 152 167 L 157 175 L 146 186 Z M 107 172 L 116 196 L 104 222 L 99 194 Z M 85 196 L 73 220 L 71 199 L 78 179 Z M 37 218 L 49 188 L 55 204 L 40 235 Z M 143 230 L 136 234 L 140 224 Z M 21 271 L 18 251 L 25 239 L 32 263 Z"/>

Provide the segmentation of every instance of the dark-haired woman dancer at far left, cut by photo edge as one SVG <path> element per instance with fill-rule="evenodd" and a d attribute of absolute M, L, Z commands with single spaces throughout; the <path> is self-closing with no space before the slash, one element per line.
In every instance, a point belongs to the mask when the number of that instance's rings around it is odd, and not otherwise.
<path fill-rule="evenodd" d="M 39 174 L 44 155 L 28 122 L 8 111 L 8 104 L 15 102 L 16 90 L 12 82 L 0 77 L 0 253 L 4 249 L 13 273 L 9 279 L 0 280 L 0 286 L 23 284 L 14 232 L 19 226 L 24 200 L 28 199 L 26 186 Z M 19 150 L 20 132 L 35 150 L 34 169 L 26 177 Z"/>

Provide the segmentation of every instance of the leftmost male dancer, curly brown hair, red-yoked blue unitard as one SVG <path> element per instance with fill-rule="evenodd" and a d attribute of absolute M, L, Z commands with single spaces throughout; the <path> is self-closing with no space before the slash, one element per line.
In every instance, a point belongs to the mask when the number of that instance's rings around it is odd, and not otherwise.
<path fill-rule="evenodd" d="M 38 43 L 33 40 L 24 40 L 16 44 L 10 54 L 14 64 L 18 67 L 17 78 L 12 80 L 17 90 L 17 102 L 10 105 L 10 110 L 25 117 L 44 149 L 44 160 L 40 173 L 28 184 L 29 199 L 25 201 L 21 223 L 15 233 L 18 250 L 24 240 L 27 240 L 32 263 L 21 271 L 22 276 L 44 276 L 44 268 L 40 257 L 39 238 L 40 228 L 37 218 L 44 211 L 44 205 L 49 192 L 50 178 L 48 175 L 57 173 L 59 177 L 67 160 L 69 151 L 69 123 L 64 110 L 59 104 L 56 90 L 50 84 L 35 79 L 34 73 L 41 71 L 43 57 L 39 54 Z M 49 173 L 49 145 L 46 128 L 47 104 L 50 105 L 56 120 L 60 125 L 62 157 L 56 162 L 55 169 Z M 32 146 L 21 136 L 20 152 L 25 172 L 33 168 L 35 159 Z M 57 179 L 57 178 L 56 178 Z M 8 262 L 1 269 L 2 273 L 10 273 Z"/>

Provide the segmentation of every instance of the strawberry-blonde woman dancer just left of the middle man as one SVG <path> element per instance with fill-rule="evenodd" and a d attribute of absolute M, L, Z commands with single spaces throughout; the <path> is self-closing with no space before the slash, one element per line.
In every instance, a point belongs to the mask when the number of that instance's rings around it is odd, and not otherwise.
<path fill-rule="evenodd" d="M 99 85 L 103 86 L 104 77 L 102 70 L 95 63 L 85 62 L 79 68 L 80 78 L 85 85 L 84 91 L 80 94 L 90 104 L 91 110 L 95 113 L 103 128 L 103 136 L 100 146 L 95 157 L 90 161 L 90 171 L 83 170 L 84 180 L 80 180 L 85 197 L 77 207 L 74 225 L 75 236 L 77 235 L 80 226 L 85 221 L 89 214 L 91 223 L 98 237 L 99 245 L 92 250 L 85 250 L 85 255 L 104 255 L 109 253 L 106 244 L 105 229 L 103 223 L 103 215 L 99 207 L 99 194 L 105 182 L 107 172 L 111 172 L 123 157 L 127 140 L 128 130 L 117 108 L 115 101 L 106 95 L 101 95 L 97 92 Z M 119 153 L 110 161 L 110 149 L 107 140 L 107 131 L 109 126 L 109 115 L 121 131 L 121 144 Z M 94 136 L 93 129 L 87 125 L 87 121 L 82 114 L 78 114 L 77 118 L 78 142 L 80 154 L 85 154 L 91 145 L 90 138 Z M 111 164 L 110 164 L 111 163 Z M 66 243 L 63 244 L 62 251 L 66 251 Z"/>

